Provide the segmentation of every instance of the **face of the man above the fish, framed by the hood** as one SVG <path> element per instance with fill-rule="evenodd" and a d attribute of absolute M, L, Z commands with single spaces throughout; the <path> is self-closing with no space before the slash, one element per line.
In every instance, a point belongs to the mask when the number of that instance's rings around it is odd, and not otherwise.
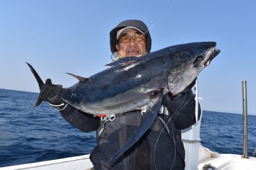
<path fill-rule="evenodd" d="M 122 36 L 136 36 L 136 34 L 141 35 L 141 32 L 137 30 L 130 30 L 122 33 Z M 141 56 L 147 53 L 146 48 L 146 39 L 142 41 L 135 41 L 133 38 L 129 42 L 123 43 L 118 41 L 118 44 L 115 45 L 117 48 L 117 53 L 122 57 L 129 57 L 129 56 Z"/>

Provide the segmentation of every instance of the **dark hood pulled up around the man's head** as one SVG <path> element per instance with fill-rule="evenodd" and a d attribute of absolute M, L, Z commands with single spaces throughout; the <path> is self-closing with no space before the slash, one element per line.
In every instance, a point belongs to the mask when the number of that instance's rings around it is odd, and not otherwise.
<path fill-rule="evenodd" d="M 111 52 L 117 52 L 117 49 L 115 48 L 115 44 L 118 43 L 117 40 L 117 31 L 119 31 L 122 28 L 125 27 L 135 27 L 140 29 L 142 32 L 144 32 L 144 35 L 146 35 L 146 40 L 147 40 L 147 52 L 149 53 L 151 50 L 151 37 L 150 37 L 150 33 L 148 31 L 148 28 L 146 26 L 146 24 L 144 24 L 141 20 L 135 20 L 135 19 L 131 19 L 131 20 L 124 20 L 123 22 L 119 23 L 117 25 L 117 27 L 115 27 L 114 29 L 112 29 L 112 31 L 110 31 L 110 49 Z M 145 33 L 146 32 L 146 33 Z"/>

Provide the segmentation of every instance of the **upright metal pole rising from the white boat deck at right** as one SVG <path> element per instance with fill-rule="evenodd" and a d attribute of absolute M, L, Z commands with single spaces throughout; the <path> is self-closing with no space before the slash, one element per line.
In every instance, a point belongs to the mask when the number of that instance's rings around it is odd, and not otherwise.
<path fill-rule="evenodd" d="M 246 81 L 242 81 L 243 88 L 243 156 L 242 158 L 249 158 L 247 155 L 247 89 Z"/>

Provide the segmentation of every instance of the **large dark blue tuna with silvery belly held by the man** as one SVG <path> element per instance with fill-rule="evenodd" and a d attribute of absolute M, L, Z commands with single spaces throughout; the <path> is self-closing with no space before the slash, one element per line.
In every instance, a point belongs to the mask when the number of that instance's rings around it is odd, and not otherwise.
<path fill-rule="evenodd" d="M 109 69 L 89 78 L 75 76 L 79 82 L 63 88 L 61 99 L 90 114 L 117 114 L 147 105 L 143 120 L 132 137 L 110 160 L 115 162 L 150 128 L 159 112 L 163 95 L 179 94 L 220 53 L 216 42 L 193 42 L 169 46 L 142 57 L 126 57 L 110 63 Z M 29 65 L 29 64 L 28 64 Z M 36 71 L 29 65 L 43 85 Z M 42 102 L 38 99 L 36 106 Z"/>

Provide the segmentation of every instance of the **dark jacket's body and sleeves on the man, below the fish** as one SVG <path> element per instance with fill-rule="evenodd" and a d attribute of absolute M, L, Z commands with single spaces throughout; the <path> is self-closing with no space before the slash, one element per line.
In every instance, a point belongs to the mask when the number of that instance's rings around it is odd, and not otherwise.
<path fill-rule="evenodd" d="M 181 129 L 196 122 L 194 96 L 192 91 L 176 97 L 167 94 L 163 103 L 169 115 L 158 114 L 151 128 L 111 169 L 184 169 L 185 150 Z M 102 165 L 131 137 L 143 117 L 141 111 L 136 110 L 115 114 L 113 121 L 101 124 L 100 117 L 93 117 L 71 106 L 60 113 L 70 124 L 84 132 L 97 130 L 97 146 L 90 154 L 95 169 L 102 169 Z"/>

